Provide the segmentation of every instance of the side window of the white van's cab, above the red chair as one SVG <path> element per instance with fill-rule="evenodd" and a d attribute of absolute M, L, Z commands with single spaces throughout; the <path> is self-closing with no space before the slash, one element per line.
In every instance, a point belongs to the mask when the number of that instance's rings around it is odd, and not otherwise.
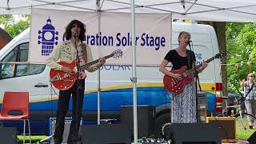
<path fill-rule="evenodd" d="M 29 52 L 29 43 L 22 43 L 10 51 L 0 65 L 0 78 L 15 78 L 32 74 L 40 74 L 45 69 L 45 65 L 40 64 L 20 64 L 15 62 L 27 62 Z"/>

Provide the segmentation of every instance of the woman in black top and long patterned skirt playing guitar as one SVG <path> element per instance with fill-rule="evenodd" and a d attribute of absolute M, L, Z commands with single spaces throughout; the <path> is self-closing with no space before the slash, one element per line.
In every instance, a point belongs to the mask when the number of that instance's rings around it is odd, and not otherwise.
<path fill-rule="evenodd" d="M 184 75 L 178 73 L 178 70 L 182 66 L 187 66 L 187 70 L 194 67 L 195 55 L 193 51 L 187 50 L 186 46 L 190 42 L 190 33 L 182 31 L 178 35 L 178 48 L 170 50 L 166 57 L 162 60 L 159 70 L 166 76 L 173 78 L 175 82 L 181 82 Z M 190 58 L 189 58 L 190 57 Z M 173 70 L 167 70 L 167 64 L 172 63 Z M 190 62 L 190 63 L 189 63 Z M 198 68 L 196 71 L 198 73 L 202 72 L 206 68 L 206 62 L 202 62 L 202 67 Z M 174 71 L 177 70 L 177 73 Z M 171 72 L 173 71 L 173 72 Z M 193 78 L 194 79 L 194 78 Z M 175 83 L 173 82 L 173 83 Z M 174 86 L 175 87 L 175 86 Z M 186 83 L 184 89 L 179 94 L 172 94 L 171 102 L 171 122 L 174 123 L 188 123 L 197 122 L 196 118 L 196 91 L 195 91 L 194 80 Z"/>

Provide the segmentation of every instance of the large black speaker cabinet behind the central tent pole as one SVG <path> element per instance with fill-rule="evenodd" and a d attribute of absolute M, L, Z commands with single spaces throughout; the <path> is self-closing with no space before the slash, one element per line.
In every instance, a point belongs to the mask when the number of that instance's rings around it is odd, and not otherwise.
<path fill-rule="evenodd" d="M 150 138 L 154 134 L 155 107 L 138 106 L 138 138 Z M 134 135 L 134 108 L 133 106 L 121 106 L 121 122 L 128 126 L 130 138 Z"/>

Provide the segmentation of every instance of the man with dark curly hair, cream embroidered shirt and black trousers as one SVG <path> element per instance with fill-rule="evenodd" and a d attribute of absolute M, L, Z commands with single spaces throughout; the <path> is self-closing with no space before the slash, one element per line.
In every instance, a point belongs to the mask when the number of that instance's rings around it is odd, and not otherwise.
<path fill-rule="evenodd" d="M 82 43 L 85 38 L 85 25 L 78 21 L 72 20 L 66 26 L 65 37 L 66 41 L 61 42 L 58 46 L 54 47 L 54 50 L 50 54 L 50 57 L 46 59 L 46 65 L 50 66 L 54 70 L 62 70 L 67 75 L 73 74 L 74 70 L 71 70 L 69 66 L 62 66 L 58 63 L 66 62 L 71 65 L 74 60 L 77 61 L 78 66 L 82 66 L 83 63 L 93 61 L 90 46 Z M 76 45 L 76 46 L 75 46 Z M 78 54 L 77 54 L 78 51 Z M 93 72 L 98 70 L 106 62 L 105 58 L 99 58 L 99 62 L 93 66 L 89 66 L 86 70 Z M 78 72 L 79 76 L 76 82 L 68 90 L 60 90 L 58 98 L 58 110 L 57 121 L 54 131 L 54 143 L 62 143 L 62 134 L 64 131 L 64 121 L 67 110 L 69 108 L 70 95 L 72 94 L 73 109 L 72 109 L 72 122 L 70 125 L 70 133 L 67 143 L 78 142 L 81 138 L 78 136 L 78 129 L 80 126 L 80 119 L 82 117 L 82 103 L 85 90 L 85 77 L 84 71 Z M 78 126 L 77 126 L 78 125 Z"/>

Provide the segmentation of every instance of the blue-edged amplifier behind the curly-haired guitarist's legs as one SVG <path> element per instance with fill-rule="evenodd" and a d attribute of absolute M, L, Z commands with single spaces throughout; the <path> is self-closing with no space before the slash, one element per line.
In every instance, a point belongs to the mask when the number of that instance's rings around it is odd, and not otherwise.
<path fill-rule="evenodd" d="M 64 143 L 67 142 L 67 138 L 69 136 L 70 133 L 70 125 L 72 122 L 72 117 L 66 117 L 65 118 L 65 127 L 64 127 L 64 132 L 63 132 L 63 141 Z M 54 131 L 55 131 L 55 126 L 56 126 L 56 118 L 49 118 L 49 135 L 53 135 Z M 82 118 L 80 121 L 80 128 L 82 126 Z M 79 133 L 80 133 L 80 129 L 79 129 Z M 54 138 L 52 137 L 50 139 L 50 143 L 54 144 Z"/>

